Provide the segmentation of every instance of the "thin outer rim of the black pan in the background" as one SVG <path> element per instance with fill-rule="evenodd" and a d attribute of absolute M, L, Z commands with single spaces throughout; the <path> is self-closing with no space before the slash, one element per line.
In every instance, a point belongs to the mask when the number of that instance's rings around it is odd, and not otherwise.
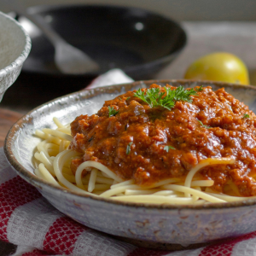
<path fill-rule="evenodd" d="M 172 59 L 172 57 L 174 57 L 175 55 L 178 55 L 186 46 L 186 44 L 188 43 L 188 35 L 186 30 L 184 29 L 184 27 L 182 26 L 181 22 L 177 21 L 177 20 L 173 20 L 170 17 L 167 17 L 166 15 L 161 15 L 160 13 L 154 12 L 154 10 L 148 10 L 148 9 L 143 9 L 140 7 L 134 7 L 134 6 L 123 6 L 121 4 L 110 4 L 110 3 L 100 3 L 100 4 L 96 4 L 96 3 L 88 3 L 88 4 L 83 4 L 83 3 L 67 3 L 64 5 L 58 5 L 58 4 L 42 4 L 42 5 L 37 5 L 37 6 L 31 6 L 27 9 L 27 11 L 32 14 L 32 15 L 36 15 L 36 14 L 40 14 L 42 12 L 45 11 L 50 11 L 50 10 L 61 10 L 61 9 L 72 9 L 72 8 L 79 8 L 79 7 L 87 7 L 87 8 L 108 8 L 108 9 L 137 9 L 137 10 L 141 10 L 144 13 L 148 14 L 148 15 L 155 15 L 160 17 L 163 20 L 168 20 L 169 22 L 171 22 L 173 25 L 175 25 L 179 30 L 180 33 L 183 37 L 183 43 L 180 44 L 177 49 L 169 51 L 166 55 L 163 55 L 161 57 L 158 57 L 156 59 L 154 59 L 153 61 L 147 61 L 145 63 L 140 63 L 140 64 L 136 64 L 136 65 L 132 65 L 131 67 L 125 67 L 124 71 L 125 73 L 132 73 L 134 71 L 136 71 L 137 69 L 139 70 L 143 70 L 143 69 L 147 69 L 151 66 L 154 65 L 164 65 L 166 63 L 166 61 L 169 61 L 170 59 Z M 38 74 L 47 74 L 47 75 L 55 75 L 55 76 L 67 76 L 67 74 L 63 74 L 63 73 L 59 73 L 59 72 L 55 72 L 52 70 L 37 70 L 37 71 L 33 71 L 29 68 L 24 69 L 24 72 L 26 73 L 38 73 Z M 98 75 L 99 73 L 85 73 L 85 75 Z M 68 76 L 84 76 L 84 75 L 73 75 L 73 74 L 68 74 Z"/>

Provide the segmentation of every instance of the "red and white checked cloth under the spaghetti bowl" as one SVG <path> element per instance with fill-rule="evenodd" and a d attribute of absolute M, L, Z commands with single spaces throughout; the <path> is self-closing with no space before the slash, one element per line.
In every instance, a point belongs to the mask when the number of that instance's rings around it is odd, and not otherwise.
<path fill-rule="evenodd" d="M 120 71 L 111 71 L 103 78 L 110 84 L 119 83 L 120 78 L 124 83 L 129 82 Z M 91 85 L 99 82 L 104 85 L 104 79 L 96 79 Z M 52 207 L 37 189 L 15 174 L 5 159 L 3 148 L 0 148 L 0 240 L 18 245 L 14 256 L 256 255 L 256 231 L 179 252 L 151 250 L 114 240 L 107 234 L 76 223 Z"/>

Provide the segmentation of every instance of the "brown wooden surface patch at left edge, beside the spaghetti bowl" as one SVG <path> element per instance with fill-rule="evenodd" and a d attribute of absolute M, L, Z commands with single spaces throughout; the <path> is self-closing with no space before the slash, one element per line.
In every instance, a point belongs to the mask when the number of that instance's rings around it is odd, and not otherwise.
<path fill-rule="evenodd" d="M 3 147 L 4 139 L 12 125 L 20 119 L 22 113 L 0 108 L 0 148 Z"/>

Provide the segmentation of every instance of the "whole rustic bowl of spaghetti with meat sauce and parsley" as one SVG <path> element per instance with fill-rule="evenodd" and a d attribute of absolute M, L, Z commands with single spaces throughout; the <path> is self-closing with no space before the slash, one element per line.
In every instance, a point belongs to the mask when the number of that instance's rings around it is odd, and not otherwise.
<path fill-rule="evenodd" d="M 13 168 L 61 212 L 140 241 L 256 230 L 256 89 L 188 80 L 84 90 L 9 131 Z"/>

